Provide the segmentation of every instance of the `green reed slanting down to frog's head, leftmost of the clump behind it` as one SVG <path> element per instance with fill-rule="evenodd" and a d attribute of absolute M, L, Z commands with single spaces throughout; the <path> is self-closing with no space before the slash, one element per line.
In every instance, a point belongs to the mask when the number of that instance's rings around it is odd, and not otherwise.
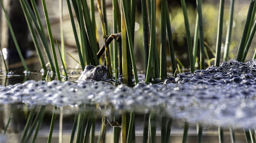
<path fill-rule="evenodd" d="M 70 16 L 70 21 L 71 21 L 74 37 L 75 37 L 77 52 L 78 52 L 79 60 L 80 60 L 80 63 L 81 63 L 80 65 L 82 67 L 82 70 L 84 70 L 85 66 L 84 66 L 84 62 L 83 62 L 83 59 L 82 59 L 81 47 L 80 47 L 80 44 L 79 44 L 79 40 L 78 40 L 78 36 L 77 36 L 77 32 L 76 32 L 76 25 L 75 25 L 75 21 L 74 21 L 74 17 L 73 17 L 73 13 L 72 13 L 72 9 L 71 9 L 71 5 L 70 5 L 69 0 L 67 0 L 67 6 L 68 6 L 68 9 L 69 9 L 69 16 Z"/>

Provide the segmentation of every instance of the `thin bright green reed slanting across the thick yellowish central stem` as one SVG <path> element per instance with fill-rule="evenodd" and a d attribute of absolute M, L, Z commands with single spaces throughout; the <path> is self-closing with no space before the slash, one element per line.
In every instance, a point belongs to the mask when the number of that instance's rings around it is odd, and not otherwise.
<path fill-rule="evenodd" d="M 138 81 L 137 67 L 136 67 L 135 58 L 134 58 L 131 27 L 130 27 L 130 23 L 129 23 L 127 7 L 125 5 L 124 0 L 122 0 L 122 7 L 123 7 L 123 14 L 124 14 L 124 20 L 125 20 L 125 25 L 126 25 L 126 32 L 127 32 L 128 43 L 129 43 L 129 49 L 130 49 L 130 54 L 131 54 L 132 66 L 133 66 L 133 71 L 134 71 L 134 80 L 135 80 L 135 84 L 137 84 L 139 81 Z"/>

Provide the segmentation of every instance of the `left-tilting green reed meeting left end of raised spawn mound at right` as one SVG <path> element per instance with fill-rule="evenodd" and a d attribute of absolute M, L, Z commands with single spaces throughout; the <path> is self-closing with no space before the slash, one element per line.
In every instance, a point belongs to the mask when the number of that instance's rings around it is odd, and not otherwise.
<path fill-rule="evenodd" d="M 192 47 L 192 41 L 191 41 L 191 36 L 190 36 L 189 21 L 188 21 L 188 16 L 187 16 L 187 7 L 186 7 L 185 0 L 181 0 L 181 7 L 182 7 L 182 11 L 183 11 L 184 23 L 185 23 L 185 29 L 186 29 L 190 71 L 194 72 L 195 71 L 195 66 L 194 66 L 194 60 L 193 60 L 193 49 L 192 49 L 193 47 Z"/>

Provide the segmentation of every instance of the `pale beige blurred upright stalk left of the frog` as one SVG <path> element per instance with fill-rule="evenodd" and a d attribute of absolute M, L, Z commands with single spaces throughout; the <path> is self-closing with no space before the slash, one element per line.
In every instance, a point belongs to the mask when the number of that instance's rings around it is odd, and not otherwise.
<path fill-rule="evenodd" d="M 66 65 L 66 56 L 65 56 L 65 41 L 64 41 L 64 32 L 63 32 L 63 3 L 62 0 L 59 0 L 59 31 L 60 31 L 60 44 L 61 44 L 61 55 L 62 61 Z"/>

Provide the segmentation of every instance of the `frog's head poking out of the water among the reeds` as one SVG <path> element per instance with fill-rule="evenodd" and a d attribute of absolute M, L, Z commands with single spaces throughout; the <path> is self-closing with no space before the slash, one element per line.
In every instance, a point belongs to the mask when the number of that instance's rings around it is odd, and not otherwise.
<path fill-rule="evenodd" d="M 88 65 L 84 68 L 81 75 L 78 77 L 77 81 L 85 81 L 85 80 L 105 80 L 106 79 L 106 67 L 102 65 L 93 66 Z"/>

